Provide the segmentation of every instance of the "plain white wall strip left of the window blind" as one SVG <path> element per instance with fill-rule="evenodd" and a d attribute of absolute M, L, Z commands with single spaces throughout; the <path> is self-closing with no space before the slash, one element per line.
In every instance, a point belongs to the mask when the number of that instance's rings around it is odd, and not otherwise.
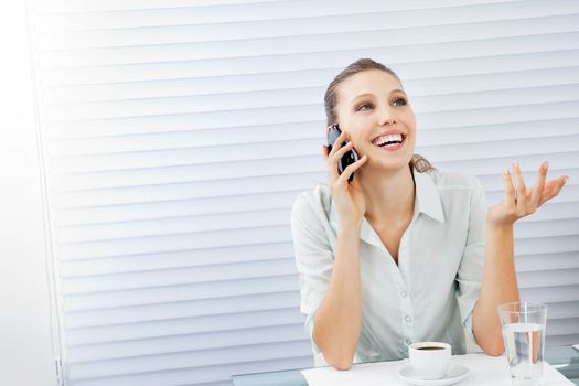
<path fill-rule="evenodd" d="M 0 384 L 55 385 L 36 147 L 22 2 L 0 9 Z"/>

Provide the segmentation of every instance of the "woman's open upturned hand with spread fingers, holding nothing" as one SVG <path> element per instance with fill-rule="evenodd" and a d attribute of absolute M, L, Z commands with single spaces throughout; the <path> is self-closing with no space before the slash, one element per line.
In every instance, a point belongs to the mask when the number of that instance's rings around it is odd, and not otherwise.
<path fill-rule="evenodd" d="M 512 225 L 518 218 L 535 213 L 540 205 L 557 196 L 569 178 L 559 176 L 546 181 L 547 169 L 548 163 L 545 161 L 539 167 L 535 186 L 527 189 L 523 175 L 521 175 L 518 163 L 513 162 L 514 184 L 508 169 L 505 169 L 503 171 L 505 197 L 489 208 L 486 221 L 494 225 Z"/>

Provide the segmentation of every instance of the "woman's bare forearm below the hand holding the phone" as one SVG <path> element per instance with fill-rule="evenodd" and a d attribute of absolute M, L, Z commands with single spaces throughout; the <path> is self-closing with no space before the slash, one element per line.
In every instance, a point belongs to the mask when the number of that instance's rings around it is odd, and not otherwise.
<path fill-rule="evenodd" d="M 360 226 L 339 230 L 332 279 L 315 313 L 313 340 L 337 369 L 352 367 L 362 326 L 358 247 Z"/>

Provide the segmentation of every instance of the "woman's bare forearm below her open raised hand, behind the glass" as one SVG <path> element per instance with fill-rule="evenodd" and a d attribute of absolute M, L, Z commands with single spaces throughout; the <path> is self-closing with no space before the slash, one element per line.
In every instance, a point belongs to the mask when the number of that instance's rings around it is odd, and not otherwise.
<path fill-rule="evenodd" d="M 473 311 L 472 326 L 476 343 L 487 354 L 504 351 L 497 307 L 518 301 L 515 272 L 513 224 L 486 224 L 486 249 L 481 297 Z"/>

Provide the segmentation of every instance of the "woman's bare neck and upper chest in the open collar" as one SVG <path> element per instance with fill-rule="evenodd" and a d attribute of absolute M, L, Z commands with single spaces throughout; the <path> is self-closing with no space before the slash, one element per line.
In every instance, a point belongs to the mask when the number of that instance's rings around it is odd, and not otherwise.
<path fill-rule="evenodd" d="M 367 179 L 360 175 L 360 184 L 366 197 L 368 222 L 374 226 L 409 222 L 415 205 L 415 183 L 410 168 L 393 172 L 367 170 L 366 175 Z"/>

